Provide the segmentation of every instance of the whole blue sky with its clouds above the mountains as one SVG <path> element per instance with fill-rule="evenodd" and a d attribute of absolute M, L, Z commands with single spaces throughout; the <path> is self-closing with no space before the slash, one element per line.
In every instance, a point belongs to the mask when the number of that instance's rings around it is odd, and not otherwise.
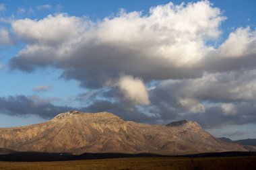
<path fill-rule="evenodd" d="M 256 138 L 256 1 L 0 1 L 0 128 L 69 110 Z"/>

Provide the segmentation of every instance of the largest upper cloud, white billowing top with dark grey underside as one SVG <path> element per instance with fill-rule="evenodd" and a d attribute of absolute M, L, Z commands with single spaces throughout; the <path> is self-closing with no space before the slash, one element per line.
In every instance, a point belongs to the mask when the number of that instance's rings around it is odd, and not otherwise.
<path fill-rule="evenodd" d="M 11 67 L 32 71 L 54 61 L 63 77 L 94 88 L 120 73 L 145 81 L 199 77 L 198 63 L 212 50 L 205 43 L 218 38 L 224 19 L 209 1 L 158 5 L 148 15 L 121 11 L 96 23 L 66 14 L 20 19 L 11 24 L 13 32 L 28 46 L 11 60 Z M 36 48 L 26 52 L 30 46 Z M 49 50 L 43 54 L 40 48 Z M 51 57 L 49 51 L 54 52 Z"/>

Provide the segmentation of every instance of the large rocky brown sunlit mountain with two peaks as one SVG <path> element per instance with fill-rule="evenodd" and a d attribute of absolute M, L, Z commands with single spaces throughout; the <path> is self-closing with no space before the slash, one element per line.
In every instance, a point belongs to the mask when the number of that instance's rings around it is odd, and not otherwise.
<path fill-rule="evenodd" d="M 46 153 L 191 153 L 247 151 L 205 132 L 197 122 L 141 124 L 108 112 L 59 114 L 42 124 L 0 128 L 0 147 Z"/>

